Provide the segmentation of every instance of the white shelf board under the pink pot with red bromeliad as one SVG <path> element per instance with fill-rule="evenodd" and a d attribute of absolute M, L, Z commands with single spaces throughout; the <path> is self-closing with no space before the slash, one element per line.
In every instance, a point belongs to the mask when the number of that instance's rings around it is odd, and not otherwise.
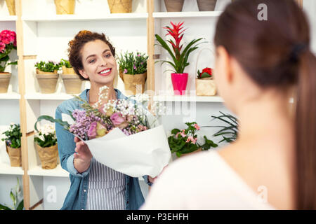
<path fill-rule="evenodd" d="M 204 97 L 195 95 L 157 95 L 154 96 L 156 102 L 224 102 L 221 97 Z"/>

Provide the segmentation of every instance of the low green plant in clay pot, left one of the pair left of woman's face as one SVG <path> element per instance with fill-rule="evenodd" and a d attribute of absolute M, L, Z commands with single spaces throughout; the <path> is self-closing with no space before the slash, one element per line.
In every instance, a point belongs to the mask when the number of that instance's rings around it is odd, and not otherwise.
<path fill-rule="evenodd" d="M 42 93 L 55 92 L 60 64 L 53 61 L 35 63 L 36 76 Z"/>

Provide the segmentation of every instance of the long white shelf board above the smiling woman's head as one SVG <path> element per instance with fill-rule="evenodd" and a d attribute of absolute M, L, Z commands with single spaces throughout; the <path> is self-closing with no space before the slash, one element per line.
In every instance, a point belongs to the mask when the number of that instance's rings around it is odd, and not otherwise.
<path fill-rule="evenodd" d="M 105 15 L 53 15 L 45 16 L 22 16 L 24 21 L 32 22 L 67 22 L 67 21 L 96 21 L 96 20 L 143 20 L 147 19 L 148 13 L 113 13 Z"/>

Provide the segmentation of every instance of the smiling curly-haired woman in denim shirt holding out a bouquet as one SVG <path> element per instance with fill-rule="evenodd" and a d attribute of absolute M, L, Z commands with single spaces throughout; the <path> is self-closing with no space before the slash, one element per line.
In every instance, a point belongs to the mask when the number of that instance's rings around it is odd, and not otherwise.
<path fill-rule="evenodd" d="M 105 34 L 79 31 L 69 43 L 69 60 L 77 75 L 89 80 L 90 90 L 81 92 L 81 99 L 91 106 L 98 102 L 100 87 L 107 86 L 108 100 L 127 99 L 119 90 L 114 89 L 117 76 L 115 49 Z M 81 102 L 69 99 L 62 102 L 55 111 L 55 119 L 62 120 L 62 113 L 80 109 Z M 113 210 L 139 209 L 144 202 L 138 178 L 133 178 L 96 161 L 83 141 L 74 137 L 55 124 L 58 153 L 63 169 L 70 173 L 70 190 L 61 209 L 72 210 Z M 143 176 L 151 185 L 153 179 Z M 150 182 L 151 181 L 151 182 Z"/>

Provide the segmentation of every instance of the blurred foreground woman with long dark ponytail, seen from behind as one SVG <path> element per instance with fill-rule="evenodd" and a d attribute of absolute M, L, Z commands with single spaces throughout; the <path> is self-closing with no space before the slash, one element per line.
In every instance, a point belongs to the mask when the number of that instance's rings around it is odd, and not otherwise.
<path fill-rule="evenodd" d="M 141 209 L 316 209 L 316 57 L 303 10 L 293 0 L 234 1 L 214 43 L 237 140 L 171 163 Z"/>

